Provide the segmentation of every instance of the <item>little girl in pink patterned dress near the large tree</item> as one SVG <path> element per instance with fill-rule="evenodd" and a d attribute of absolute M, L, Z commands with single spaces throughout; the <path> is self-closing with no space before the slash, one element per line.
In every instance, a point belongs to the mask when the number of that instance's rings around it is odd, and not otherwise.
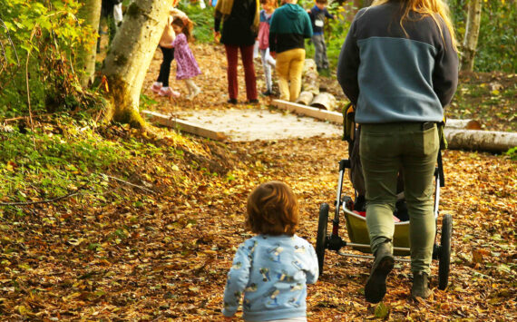
<path fill-rule="evenodd" d="M 185 81 L 189 95 L 187 99 L 191 100 L 199 93 L 200 88 L 192 80 L 193 77 L 201 73 L 200 66 L 194 58 L 194 54 L 189 47 L 190 31 L 192 23 L 188 19 L 175 18 L 172 21 L 172 28 L 176 33 L 176 38 L 172 42 L 174 47 L 174 58 L 176 59 L 176 79 Z"/>

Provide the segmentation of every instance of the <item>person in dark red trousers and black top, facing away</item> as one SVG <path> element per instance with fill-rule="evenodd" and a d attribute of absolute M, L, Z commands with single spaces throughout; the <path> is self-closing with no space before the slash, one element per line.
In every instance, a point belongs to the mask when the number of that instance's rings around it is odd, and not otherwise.
<path fill-rule="evenodd" d="M 228 61 L 229 103 L 236 104 L 239 95 L 237 82 L 237 58 L 240 50 L 244 66 L 246 97 L 248 102 L 257 103 L 257 79 L 253 64 L 253 45 L 257 38 L 259 20 L 258 0 L 219 0 L 215 7 L 214 37 L 220 36 Z M 220 22 L 222 35 L 220 35 Z"/>

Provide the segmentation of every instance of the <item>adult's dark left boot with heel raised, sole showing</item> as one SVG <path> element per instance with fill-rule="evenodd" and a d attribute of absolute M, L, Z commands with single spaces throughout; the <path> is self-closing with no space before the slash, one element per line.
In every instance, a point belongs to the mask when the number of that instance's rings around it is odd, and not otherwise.
<path fill-rule="evenodd" d="M 378 303 L 385 297 L 386 277 L 395 264 L 391 240 L 382 243 L 376 250 L 375 256 L 374 266 L 365 287 L 366 301 L 370 303 Z"/>

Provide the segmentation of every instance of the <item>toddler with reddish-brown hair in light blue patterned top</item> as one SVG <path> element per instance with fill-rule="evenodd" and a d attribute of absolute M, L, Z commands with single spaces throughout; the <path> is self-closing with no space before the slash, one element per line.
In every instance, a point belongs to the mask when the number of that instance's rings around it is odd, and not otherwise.
<path fill-rule="evenodd" d="M 317 256 L 295 234 L 298 201 L 293 191 L 279 181 L 259 185 L 248 198 L 246 225 L 257 236 L 239 245 L 222 314 L 233 317 L 244 294 L 245 321 L 307 321 L 307 284 L 317 281 Z"/>

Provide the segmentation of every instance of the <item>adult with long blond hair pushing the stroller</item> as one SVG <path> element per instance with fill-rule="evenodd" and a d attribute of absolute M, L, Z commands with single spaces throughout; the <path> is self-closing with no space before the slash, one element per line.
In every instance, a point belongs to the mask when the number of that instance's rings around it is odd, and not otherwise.
<path fill-rule="evenodd" d="M 458 83 L 454 28 L 443 0 L 376 0 L 361 9 L 339 55 L 337 80 L 356 106 L 366 183 L 366 224 L 375 259 L 366 300 L 381 301 L 394 267 L 397 173 L 410 217 L 414 298 L 428 298 L 435 237 L 437 123 Z"/>

